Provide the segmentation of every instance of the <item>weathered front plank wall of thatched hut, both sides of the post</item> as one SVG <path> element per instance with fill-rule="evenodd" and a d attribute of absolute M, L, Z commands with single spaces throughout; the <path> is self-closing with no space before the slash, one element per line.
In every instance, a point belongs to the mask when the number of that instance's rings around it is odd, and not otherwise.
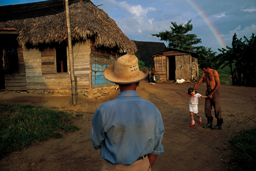
<path fill-rule="evenodd" d="M 77 78 L 77 89 L 89 89 L 89 43 L 79 42 L 72 45 L 74 57 L 74 70 Z M 56 52 L 55 49 L 47 49 L 42 52 L 38 50 L 29 50 L 26 52 L 27 68 L 33 69 L 27 75 L 28 89 L 42 90 L 70 90 L 71 77 L 68 66 L 67 73 L 56 73 Z M 39 59 L 41 63 L 38 62 Z M 68 62 L 69 64 L 69 62 Z M 37 66 L 35 68 L 34 66 Z M 41 72 L 40 72 L 40 71 Z M 33 74 L 31 74 L 33 73 Z"/>

